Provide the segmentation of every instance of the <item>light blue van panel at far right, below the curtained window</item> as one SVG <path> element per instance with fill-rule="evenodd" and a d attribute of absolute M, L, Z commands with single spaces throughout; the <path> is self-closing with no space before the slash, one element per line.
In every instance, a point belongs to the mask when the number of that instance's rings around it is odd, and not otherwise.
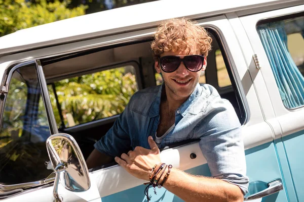
<path fill-rule="evenodd" d="M 304 201 L 304 130 L 282 138 L 298 201 Z"/>

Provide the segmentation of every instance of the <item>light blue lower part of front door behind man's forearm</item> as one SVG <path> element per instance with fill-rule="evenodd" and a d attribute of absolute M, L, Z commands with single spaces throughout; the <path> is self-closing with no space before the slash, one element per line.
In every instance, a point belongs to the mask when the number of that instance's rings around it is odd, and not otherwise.
<path fill-rule="evenodd" d="M 273 142 L 246 150 L 247 175 L 250 178 L 249 194 L 256 193 L 267 188 L 267 183 L 275 179 L 281 179 L 281 170 L 277 159 L 276 150 Z M 187 173 L 196 175 L 211 176 L 208 165 L 204 164 L 189 170 Z M 102 198 L 102 202 L 109 201 L 144 201 L 144 185 L 121 191 Z M 157 195 L 154 194 L 153 188 L 149 189 L 151 202 L 156 201 L 183 201 L 165 188 L 157 188 Z M 285 189 L 262 199 L 263 202 L 286 202 L 287 196 Z"/>

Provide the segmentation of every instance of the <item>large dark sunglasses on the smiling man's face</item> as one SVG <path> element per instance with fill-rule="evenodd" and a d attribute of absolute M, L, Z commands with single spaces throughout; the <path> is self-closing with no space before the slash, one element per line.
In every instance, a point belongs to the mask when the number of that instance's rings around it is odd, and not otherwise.
<path fill-rule="evenodd" d="M 159 58 L 159 65 L 164 72 L 170 73 L 177 70 L 180 63 L 183 62 L 187 70 L 191 72 L 198 72 L 203 68 L 204 56 L 200 55 L 189 55 L 185 56 L 183 59 L 180 56 L 164 56 Z"/>

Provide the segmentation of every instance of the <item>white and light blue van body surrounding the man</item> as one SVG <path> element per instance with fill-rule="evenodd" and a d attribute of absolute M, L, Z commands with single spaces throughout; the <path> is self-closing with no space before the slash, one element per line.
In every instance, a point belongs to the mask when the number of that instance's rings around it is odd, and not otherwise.
<path fill-rule="evenodd" d="M 70 68 L 70 73 L 76 73 L 94 69 L 100 66 L 100 61 L 106 61 L 109 57 L 115 58 L 116 63 L 130 61 L 131 58 L 136 58 L 137 54 L 141 55 L 141 58 L 151 58 L 147 51 L 148 45 L 140 44 L 153 37 L 161 21 L 181 17 L 195 19 L 201 26 L 216 33 L 222 54 L 226 57 L 226 67 L 230 68 L 231 78 L 234 79 L 234 88 L 232 86 L 216 88 L 219 93 L 237 89 L 238 101 L 244 109 L 242 132 L 246 149 L 247 176 L 250 179 L 248 195 L 263 190 L 264 187 L 261 188 L 260 184 L 268 184 L 279 179 L 283 184 L 283 190 L 265 197 L 263 201 L 304 201 L 304 193 L 301 190 L 304 186 L 304 178 L 300 171 L 301 166 L 304 166 L 302 155 L 304 148 L 301 146 L 304 142 L 304 108 L 290 110 L 283 105 L 269 59 L 257 33 L 257 24 L 261 20 L 294 14 L 303 16 L 303 3 L 301 0 L 217 1 L 216 3 L 200 0 L 165 0 L 20 30 L 0 38 L 2 85 L 6 84 L 7 72 L 17 64 L 22 66 L 29 61 L 52 60 L 60 56 L 89 52 L 96 48 L 106 53 L 107 47 L 121 47 L 121 49 L 114 48 L 116 52 L 108 53 L 107 56 L 93 54 L 93 57 L 88 57 L 86 61 L 84 61 L 86 56 L 83 56 L 81 61 L 71 60 L 71 67 L 64 62 L 58 62 L 56 67 Z M 144 42 L 139 43 L 140 41 Z M 136 43 L 132 53 L 130 49 L 128 51 L 123 48 L 124 44 L 132 45 L 133 42 Z M 140 63 L 140 60 L 138 61 Z M 207 69 L 209 65 L 208 63 Z M 51 69 L 56 67 L 52 64 L 45 65 L 47 83 L 56 81 L 59 77 L 60 79 L 64 76 L 68 77 L 66 72 L 61 74 Z M 142 75 L 136 75 L 140 81 L 138 88 L 155 85 L 155 81 L 148 76 L 154 74 L 153 68 L 148 69 L 143 64 L 140 67 Z M 208 81 L 208 75 L 206 76 Z M 208 83 L 217 85 L 217 82 L 212 81 L 212 77 L 210 79 Z M 10 89 L 8 92 L 10 93 Z M 108 120 L 116 117 L 113 116 Z M 74 126 L 66 128 L 65 132 L 72 133 L 80 130 L 81 127 L 89 126 L 89 124 Z M 195 159 L 190 158 L 192 153 L 197 155 Z M 161 158 L 164 162 L 172 164 L 174 168 L 210 176 L 198 142 L 164 149 Z M 88 191 L 75 193 L 59 186 L 58 193 L 66 202 L 145 201 L 144 181 L 131 176 L 118 165 L 90 171 L 90 179 L 91 188 Z M 0 190 L 3 187 L 4 185 L 0 185 Z M 26 188 L 17 194 L 3 195 L 1 198 L 0 200 L 8 202 L 53 201 L 53 186 L 52 183 L 41 184 Z M 261 200 L 262 198 L 257 199 L 257 201 Z M 182 200 L 161 188 L 157 195 L 152 195 L 151 201 Z"/>

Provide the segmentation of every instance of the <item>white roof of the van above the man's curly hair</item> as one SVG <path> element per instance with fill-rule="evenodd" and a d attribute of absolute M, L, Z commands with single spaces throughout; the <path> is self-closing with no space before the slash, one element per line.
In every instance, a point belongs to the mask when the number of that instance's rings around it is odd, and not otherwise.
<path fill-rule="evenodd" d="M 299 2 L 292 0 L 289 2 Z M 157 26 L 178 17 L 202 18 L 286 3 L 285 0 L 163 0 L 65 19 L 16 31 L 0 38 L 0 56 L 44 46 Z"/>

